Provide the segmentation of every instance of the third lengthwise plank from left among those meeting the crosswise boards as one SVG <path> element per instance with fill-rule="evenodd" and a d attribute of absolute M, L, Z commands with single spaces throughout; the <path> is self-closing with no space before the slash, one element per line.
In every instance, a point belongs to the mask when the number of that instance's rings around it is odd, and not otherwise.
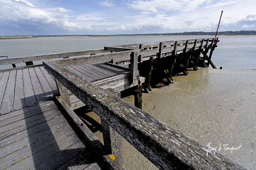
<path fill-rule="evenodd" d="M 26 107 L 37 104 L 28 69 L 23 69 L 23 83 Z"/>

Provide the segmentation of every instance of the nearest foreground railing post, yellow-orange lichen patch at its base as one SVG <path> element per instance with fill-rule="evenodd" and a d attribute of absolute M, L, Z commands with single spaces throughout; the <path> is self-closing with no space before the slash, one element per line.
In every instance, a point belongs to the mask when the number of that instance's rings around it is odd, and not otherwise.
<path fill-rule="evenodd" d="M 108 91 L 113 91 L 113 93 L 121 97 L 121 93 L 116 93 L 117 91 L 113 89 L 107 89 Z M 123 165 L 123 138 L 119 135 L 111 126 L 109 126 L 106 121 L 101 119 L 102 135 L 104 141 L 104 147 L 108 154 L 114 155 L 115 159 Z"/>

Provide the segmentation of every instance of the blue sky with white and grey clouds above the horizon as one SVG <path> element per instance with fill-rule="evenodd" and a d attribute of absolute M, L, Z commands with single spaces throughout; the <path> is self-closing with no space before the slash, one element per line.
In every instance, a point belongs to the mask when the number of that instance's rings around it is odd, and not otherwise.
<path fill-rule="evenodd" d="M 256 30 L 256 0 L 0 0 L 0 35 Z"/>

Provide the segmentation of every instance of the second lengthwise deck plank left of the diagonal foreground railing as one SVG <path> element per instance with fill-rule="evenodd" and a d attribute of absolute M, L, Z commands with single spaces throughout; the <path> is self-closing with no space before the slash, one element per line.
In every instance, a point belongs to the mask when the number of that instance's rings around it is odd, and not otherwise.
<path fill-rule="evenodd" d="M 38 80 L 40 82 L 40 85 L 45 93 L 46 101 L 53 99 L 53 90 L 51 86 L 49 85 L 48 81 L 46 80 L 45 76 L 41 72 L 41 70 L 38 67 L 34 67 L 36 75 L 38 77 Z"/>

